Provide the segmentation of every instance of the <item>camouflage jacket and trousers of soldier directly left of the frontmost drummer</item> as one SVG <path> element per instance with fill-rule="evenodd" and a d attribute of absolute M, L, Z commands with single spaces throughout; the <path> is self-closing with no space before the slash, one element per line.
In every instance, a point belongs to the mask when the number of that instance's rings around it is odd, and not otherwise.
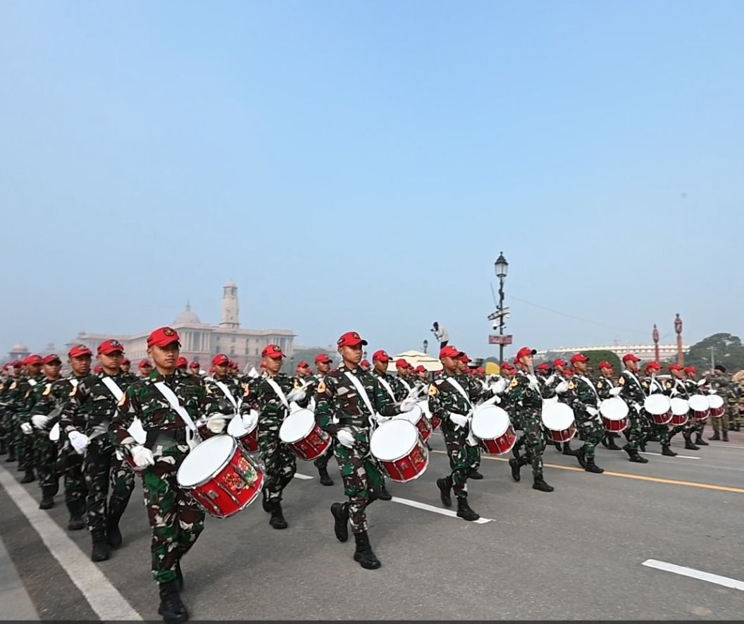
<path fill-rule="evenodd" d="M 110 378 L 122 392 L 132 385 L 128 375 L 101 373 L 83 378 L 62 406 L 60 418 L 65 435 L 79 431 L 89 438 L 83 459 L 88 529 L 94 540 L 101 541 L 106 539 L 108 526 L 118 525 L 135 486 L 134 471 L 121 456 L 116 456 L 109 439 L 109 425 L 119 399 L 103 383 L 104 378 Z"/>

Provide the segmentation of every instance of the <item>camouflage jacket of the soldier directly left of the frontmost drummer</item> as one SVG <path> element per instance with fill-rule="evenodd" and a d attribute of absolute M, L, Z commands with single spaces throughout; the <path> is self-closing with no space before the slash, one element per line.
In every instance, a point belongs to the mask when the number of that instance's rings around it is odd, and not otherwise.
<path fill-rule="evenodd" d="M 122 392 L 135 383 L 130 375 L 89 375 L 74 387 L 62 404 L 60 427 L 65 433 L 80 430 L 89 438 L 105 435 L 113 420 L 119 398 L 103 382 L 110 378 Z"/>

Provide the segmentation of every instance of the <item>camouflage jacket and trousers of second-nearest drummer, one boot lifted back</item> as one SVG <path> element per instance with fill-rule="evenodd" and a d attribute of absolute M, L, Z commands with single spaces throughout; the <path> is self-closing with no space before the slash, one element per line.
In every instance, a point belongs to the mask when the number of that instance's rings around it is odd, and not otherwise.
<path fill-rule="evenodd" d="M 381 416 L 395 416 L 398 408 L 374 376 L 361 367 L 350 371 L 342 364 L 325 376 L 315 392 L 315 421 L 334 437 L 333 453 L 344 480 L 344 494 L 349 497 L 345 513 L 351 530 L 362 533 L 367 531 L 367 506 L 385 487 L 385 480 L 382 469 L 370 452 L 371 418 L 374 415 L 369 413 L 356 386 L 347 378 L 347 372 L 359 379 L 373 409 Z M 353 448 L 336 442 L 336 433 L 341 429 L 354 436 Z"/>

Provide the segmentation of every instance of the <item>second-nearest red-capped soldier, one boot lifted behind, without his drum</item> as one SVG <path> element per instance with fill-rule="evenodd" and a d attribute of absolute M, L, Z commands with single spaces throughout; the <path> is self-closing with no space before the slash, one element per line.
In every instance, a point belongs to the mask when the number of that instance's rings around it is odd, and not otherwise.
<path fill-rule="evenodd" d="M 413 399 L 396 406 L 385 389 L 362 369 L 362 347 L 367 345 L 356 331 L 347 331 L 336 341 L 341 365 L 330 371 L 315 393 L 315 420 L 334 438 L 334 453 L 344 480 L 347 503 L 333 503 L 330 511 L 339 541 L 347 541 L 348 525 L 354 534 L 354 561 L 367 570 L 380 567 L 367 534 L 368 505 L 385 485 L 382 471 L 370 452 L 373 423 L 382 423 L 398 413 L 414 409 Z"/>

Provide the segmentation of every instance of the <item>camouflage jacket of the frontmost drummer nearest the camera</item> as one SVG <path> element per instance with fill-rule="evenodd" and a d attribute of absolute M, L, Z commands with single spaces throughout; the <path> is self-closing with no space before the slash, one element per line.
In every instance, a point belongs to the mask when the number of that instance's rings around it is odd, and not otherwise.
<path fill-rule="evenodd" d="M 126 430 L 135 418 L 139 418 L 142 428 L 148 433 L 148 445 L 153 445 L 151 438 L 160 443 L 161 436 L 157 435 L 158 432 L 173 432 L 187 427 L 179 413 L 170 407 L 170 403 L 155 386 L 155 383 L 160 382 L 176 395 L 179 404 L 194 423 L 201 416 L 208 417 L 217 413 L 214 396 L 193 375 L 184 375 L 181 372 L 161 375 L 153 370 L 147 378 L 140 378 L 126 388 L 109 427 L 111 441 L 127 453 L 131 453 L 132 447 L 137 445 Z M 175 443 L 161 445 L 153 454 L 173 455 L 176 453 L 173 451 L 176 446 Z"/>

